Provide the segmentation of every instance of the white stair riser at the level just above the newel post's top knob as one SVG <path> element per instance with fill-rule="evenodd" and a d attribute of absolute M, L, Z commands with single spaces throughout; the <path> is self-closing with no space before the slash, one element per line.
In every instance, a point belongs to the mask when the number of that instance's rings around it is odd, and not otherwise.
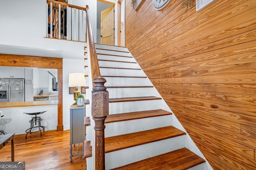
<path fill-rule="evenodd" d="M 145 76 L 141 70 L 129 70 L 118 68 L 100 68 L 100 75 L 104 76 Z"/>

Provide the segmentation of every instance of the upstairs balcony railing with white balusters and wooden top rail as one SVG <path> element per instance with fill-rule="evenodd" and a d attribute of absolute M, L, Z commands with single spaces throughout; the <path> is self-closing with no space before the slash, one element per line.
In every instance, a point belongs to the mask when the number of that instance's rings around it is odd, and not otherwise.
<path fill-rule="evenodd" d="M 86 42 L 86 8 L 47 0 L 46 37 Z"/>

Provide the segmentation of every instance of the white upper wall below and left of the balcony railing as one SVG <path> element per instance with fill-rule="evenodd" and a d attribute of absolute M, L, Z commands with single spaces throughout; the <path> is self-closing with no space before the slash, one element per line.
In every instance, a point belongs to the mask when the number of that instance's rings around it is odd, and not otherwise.
<path fill-rule="evenodd" d="M 80 59 L 85 43 L 46 37 L 46 0 L 0 0 L 0 53 Z"/>

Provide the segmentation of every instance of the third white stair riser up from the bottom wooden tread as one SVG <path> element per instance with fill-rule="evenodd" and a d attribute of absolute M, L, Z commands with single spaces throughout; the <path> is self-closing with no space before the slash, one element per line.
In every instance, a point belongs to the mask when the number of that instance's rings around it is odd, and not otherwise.
<path fill-rule="evenodd" d="M 109 103 L 109 114 L 161 109 L 161 100 Z"/>

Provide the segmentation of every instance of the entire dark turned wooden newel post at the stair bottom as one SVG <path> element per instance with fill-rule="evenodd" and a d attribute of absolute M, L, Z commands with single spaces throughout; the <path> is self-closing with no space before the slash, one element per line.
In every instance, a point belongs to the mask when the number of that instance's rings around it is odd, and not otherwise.
<path fill-rule="evenodd" d="M 96 77 L 92 80 L 92 119 L 95 121 L 95 170 L 105 170 L 105 136 L 104 121 L 108 115 L 108 91 L 104 86 L 106 80 Z"/>

